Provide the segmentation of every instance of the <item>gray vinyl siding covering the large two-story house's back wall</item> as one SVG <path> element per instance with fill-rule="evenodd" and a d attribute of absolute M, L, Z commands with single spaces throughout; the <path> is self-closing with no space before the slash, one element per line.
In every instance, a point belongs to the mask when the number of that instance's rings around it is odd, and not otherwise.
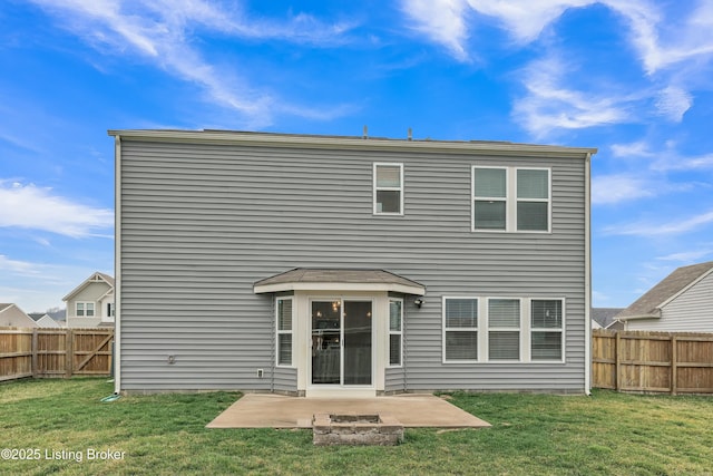
<path fill-rule="evenodd" d="M 374 162 L 404 164 L 403 216 L 373 215 Z M 472 165 L 551 167 L 551 233 L 471 232 Z M 582 156 L 123 139 L 120 186 L 124 390 L 287 389 L 289 372 L 272 375 L 272 297 L 253 283 L 374 268 L 427 288 L 421 309 L 404 301 L 404 369 L 387 369 L 387 390 L 584 391 Z M 565 298 L 566 362 L 442 363 L 442 295 Z"/>

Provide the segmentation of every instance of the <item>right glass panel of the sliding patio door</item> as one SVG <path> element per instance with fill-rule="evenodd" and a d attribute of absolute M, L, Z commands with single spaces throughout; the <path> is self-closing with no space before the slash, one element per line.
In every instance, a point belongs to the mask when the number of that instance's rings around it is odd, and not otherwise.
<path fill-rule="evenodd" d="M 344 385 L 371 385 L 371 301 L 344 301 Z"/>

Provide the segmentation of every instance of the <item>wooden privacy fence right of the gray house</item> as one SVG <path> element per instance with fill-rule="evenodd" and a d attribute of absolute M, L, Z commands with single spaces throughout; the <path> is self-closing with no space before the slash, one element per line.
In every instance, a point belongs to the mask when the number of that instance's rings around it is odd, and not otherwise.
<path fill-rule="evenodd" d="M 595 329 L 592 382 L 619 391 L 713 394 L 713 333 Z"/>

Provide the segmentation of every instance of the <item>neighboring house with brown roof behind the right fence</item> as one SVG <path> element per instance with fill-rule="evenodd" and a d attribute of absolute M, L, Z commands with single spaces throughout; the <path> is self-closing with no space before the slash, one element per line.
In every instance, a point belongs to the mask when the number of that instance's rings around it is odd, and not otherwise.
<path fill-rule="evenodd" d="M 626 330 L 713 332 L 713 261 L 676 269 L 616 319 Z"/>

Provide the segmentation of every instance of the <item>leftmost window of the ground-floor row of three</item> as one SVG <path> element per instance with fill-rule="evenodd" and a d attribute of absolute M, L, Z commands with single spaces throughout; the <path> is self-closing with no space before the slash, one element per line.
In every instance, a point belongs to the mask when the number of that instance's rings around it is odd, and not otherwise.
<path fill-rule="evenodd" d="M 443 298 L 443 360 L 478 360 L 478 300 Z"/>

